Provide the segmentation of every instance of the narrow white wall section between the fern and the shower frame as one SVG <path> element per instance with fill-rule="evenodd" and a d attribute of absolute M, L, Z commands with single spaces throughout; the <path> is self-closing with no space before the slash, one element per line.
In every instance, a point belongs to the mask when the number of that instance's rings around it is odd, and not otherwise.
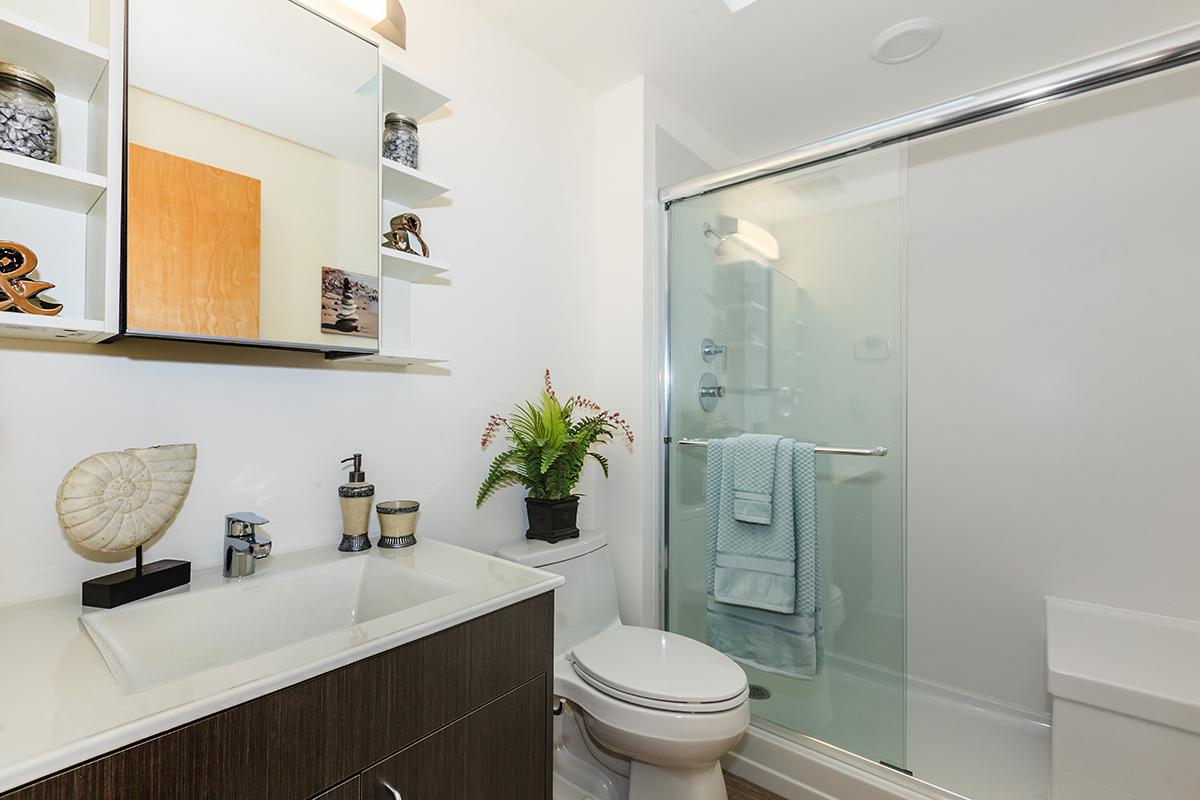
<path fill-rule="evenodd" d="M 734 157 L 644 78 L 596 100 L 595 142 L 596 399 L 620 410 L 638 435 L 635 458 L 613 459 L 596 489 L 598 525 L 612 542 L 622 619 L 654 625 L 662 515 L 658 191 Z"/>

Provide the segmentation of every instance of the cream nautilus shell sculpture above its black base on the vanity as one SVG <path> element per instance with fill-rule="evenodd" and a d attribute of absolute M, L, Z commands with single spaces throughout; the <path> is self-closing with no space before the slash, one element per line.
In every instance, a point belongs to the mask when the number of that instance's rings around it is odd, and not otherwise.
<path fill-rule="evenodd" d="M 179 513 L 194 473 L 196 445 L 96 453 L 59 485 L 59 522 L 72 541 L 90 551 L 140 547 Z"/>

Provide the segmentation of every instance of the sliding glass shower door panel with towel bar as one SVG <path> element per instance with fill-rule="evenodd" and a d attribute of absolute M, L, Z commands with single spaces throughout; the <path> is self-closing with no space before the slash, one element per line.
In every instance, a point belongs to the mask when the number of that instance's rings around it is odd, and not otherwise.
<path fill-rule="evenodd" d="M 816 674 L 788 666 L 802 646 L 794 615 L 767 618 L 775 632 L 756 640 L 752 658 L 732 655 L 758 721 L 898 768 L 904 157 L 902 146 L 888 148 L 671 205 L 666 445 L 666 622 L 700 640 L 710 639 L 719 608 L 709 597 L 718 510 L 707 501 L 704 444 L 770 433 L 818 445 L 818 547 L 787 566 L 820 561 Z"/>

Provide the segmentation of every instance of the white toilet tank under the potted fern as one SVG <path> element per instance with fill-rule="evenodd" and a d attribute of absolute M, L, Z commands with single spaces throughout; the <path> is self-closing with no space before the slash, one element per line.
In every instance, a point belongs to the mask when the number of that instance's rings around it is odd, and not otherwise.
<path fill-rule="evenodd" d="M 620 622 L 617 579 L 604 534 L 581 533 L 557 545 L 527 539 L 499 547 L 496 555 L 566 578 L 554 590 L 556 655 Z"/>

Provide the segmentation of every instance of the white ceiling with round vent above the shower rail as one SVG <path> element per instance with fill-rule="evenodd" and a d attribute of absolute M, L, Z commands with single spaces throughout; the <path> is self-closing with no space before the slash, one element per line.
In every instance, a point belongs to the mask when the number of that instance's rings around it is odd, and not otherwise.
<path fill-rule="evenodd" d="M 572 80 L 644 74 L 740 160 L 1200 22 L 1196 0 L 468 0 Z M 941 41 L 901 65 L 875 37 L 913 17 Z"/>

